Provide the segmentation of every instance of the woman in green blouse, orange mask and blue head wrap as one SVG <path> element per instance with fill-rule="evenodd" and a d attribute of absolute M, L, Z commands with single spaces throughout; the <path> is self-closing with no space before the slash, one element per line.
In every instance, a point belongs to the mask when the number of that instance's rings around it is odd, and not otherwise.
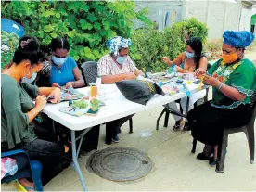
<path fill-rule="evenodd" d="M 198 77 L 204 77 L 203 83 L 213 87 L 212 100 L 191 110 L 187 116 L 193 137 L 205 144 L 197 159 L 210 160 L 211 165 L 216 163 L 224 127 L 239 127 L 250 121 L 250 96 L 256 88 L 255 67 L 244 58 L 245 47 L 254 35 L 246 31 L 226 31 L 223 37 L 223 58 L 208 74 L 198 72 Z"/>

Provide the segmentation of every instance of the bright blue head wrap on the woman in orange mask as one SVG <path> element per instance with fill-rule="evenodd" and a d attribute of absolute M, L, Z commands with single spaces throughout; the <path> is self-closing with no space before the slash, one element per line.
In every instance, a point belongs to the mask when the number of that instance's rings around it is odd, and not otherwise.
<path fill-rule="evenodd" d="M 234 32 L 225 31 L 224 32 L 224 44 L 231 45 L 238 48 L 245 48 L 250 45 L 254 40 L 254 34 L 247 31 Z"/>

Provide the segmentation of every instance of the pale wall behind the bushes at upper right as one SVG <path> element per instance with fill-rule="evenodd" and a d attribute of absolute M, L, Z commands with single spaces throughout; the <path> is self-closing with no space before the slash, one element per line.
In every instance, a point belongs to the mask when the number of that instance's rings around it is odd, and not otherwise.
<path fill-rule="evenodd" d="M 235 0 L 161 0 L 161 1 L 135 1 L 138 9 L 147 7 L 150 11 L 149 19 L 156 21 L 159 30 L 172 24 L 171 18 L 176 13 L 175 22 L 195 17 L 207 24 L 210 40 L 222 38 L 226 30 L 250 31 L 250 17 L 255 14 L 252 9 L 247 9 Z M 167 15 L 168 13 L 168 15 Z M 166 17 L 167 16 L 167 17 Z M 166 19 L 167 18 L 167 19 Z M 135 22 L 135 28 L 141 23 Z"/>

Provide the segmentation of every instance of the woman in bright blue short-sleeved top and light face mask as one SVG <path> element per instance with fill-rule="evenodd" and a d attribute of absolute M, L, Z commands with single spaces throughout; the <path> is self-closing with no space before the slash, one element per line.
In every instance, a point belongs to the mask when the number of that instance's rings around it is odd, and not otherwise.
<path fill-rule="evenodd" d="M 70 44 L 67 39 L 58 37 L 49 45 L 52 51 L 50 83 L 55 87 L 83 87 L 83 76 L 73 58 L 68 56 Z"/>

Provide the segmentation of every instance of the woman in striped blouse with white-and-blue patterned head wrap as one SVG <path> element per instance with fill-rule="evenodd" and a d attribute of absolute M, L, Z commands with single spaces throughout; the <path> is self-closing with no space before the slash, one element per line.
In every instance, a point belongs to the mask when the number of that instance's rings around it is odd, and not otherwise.
<path fill-rule="evenodd" d="M 103 56 L 97 62 L 97 74 L 101 77 L 102 83 L 134 80 L 142 73 L 128 55 L 129 46 L 132 45 L 130 39 L 117 36 L 109 39 L 106 45 L 110 49 L 110 54 Z M 132 117 L 133 115 L 129 115 L 119 120 L 107 122 L 105 143 L 110 145 L 112 142 L 119 142 L 118 134 L 121 132 L 122 124 Z"/>

